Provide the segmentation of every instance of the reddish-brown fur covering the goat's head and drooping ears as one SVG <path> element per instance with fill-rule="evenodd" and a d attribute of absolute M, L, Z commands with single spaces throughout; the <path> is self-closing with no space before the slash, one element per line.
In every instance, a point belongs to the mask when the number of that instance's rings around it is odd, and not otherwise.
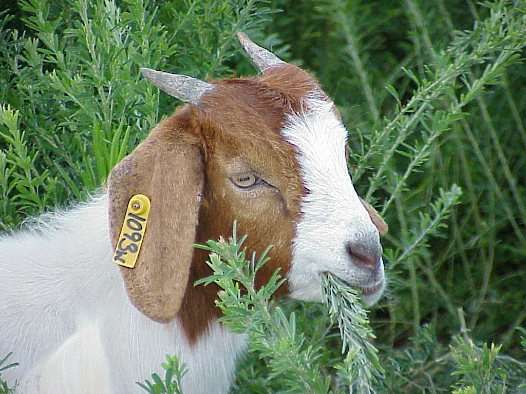
<path fill-rule="evenodd" d="M 226 238 L 237 220 L 238 233 L 248 235 L 248 251 L 274 245 L 257 285 L 278 267 L 282 276 L 288 272 L 307 191 L 295 147 L 279 131 L 286 113 L 300 111 L 302 98 L 317 88 L 307 72 L 288 64 L 268 68 L 259 78 L 214 85 L 218 89 L 205 94 L 200 105 L 161 122 L 109 178 L 114 245 L 129 198 L 144 193 L 151 199 L 137 266 L 122 268 L 131 302 L 159 322 L 177 314 L 192 343 L 220 310 L 214 305 L 216 285 L 194 287 L 211 272 L 206 252 L 192 250 L 191 243 Z M 267 184 L 240 189 L 230 177 L 243 172 Z M 287 291 L 285 284 L 278 293 Z"/>

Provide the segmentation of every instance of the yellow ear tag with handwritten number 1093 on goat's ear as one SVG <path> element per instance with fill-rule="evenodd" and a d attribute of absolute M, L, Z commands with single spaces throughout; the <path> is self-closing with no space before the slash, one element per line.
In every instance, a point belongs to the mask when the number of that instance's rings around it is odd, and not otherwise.
<path fill-rule="evenodd" d="M 150 200 L 144 194 L 135 194 L 128 202 L 123 227 L 115 246 L 113 262 L 133 268 L 143 244 L 144 232 L 150 214 Z"/>

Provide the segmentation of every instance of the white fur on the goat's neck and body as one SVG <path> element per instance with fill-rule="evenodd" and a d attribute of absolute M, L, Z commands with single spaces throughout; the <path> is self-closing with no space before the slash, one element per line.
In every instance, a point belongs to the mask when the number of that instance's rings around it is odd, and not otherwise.
<path fill-rule="evenodd" d="M 136 381 L 164 376 L 160 363 L 170 354 L 192 371 L 185 393 L 227 392 L 244 336 L 213 323 L 190 348 L 177 320 L 141 314 L 111 262 L 107 234 L 103 195 L 0 239 L 0 355 L 13 351 L 9 360 L 21 364 L 2 376 L 17 379 L 23 394 L 131 394 L 143 391 Z"/>

